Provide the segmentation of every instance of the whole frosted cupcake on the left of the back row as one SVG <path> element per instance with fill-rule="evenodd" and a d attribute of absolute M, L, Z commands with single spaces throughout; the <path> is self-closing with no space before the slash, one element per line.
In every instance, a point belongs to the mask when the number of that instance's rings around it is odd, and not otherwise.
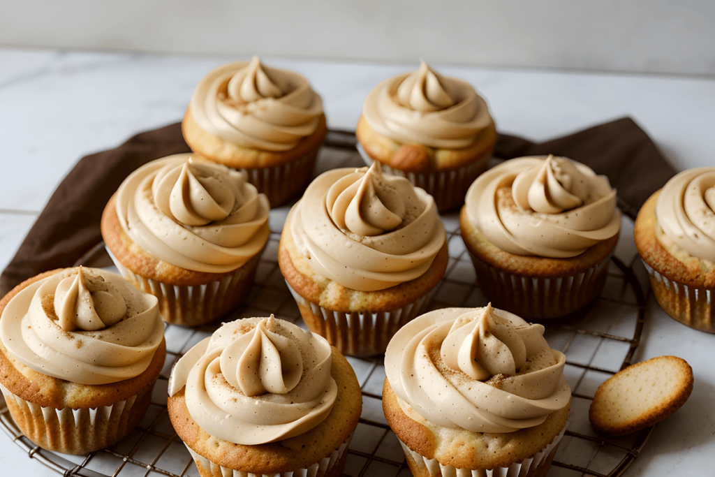
<path fill-rule="evenodd" d="M 192 151 L 245 170 L 272 207 L 305 190 L 327 133 L 322 99 L 307 79 L 257 56 L 207 74 L 182 130 Z"/>

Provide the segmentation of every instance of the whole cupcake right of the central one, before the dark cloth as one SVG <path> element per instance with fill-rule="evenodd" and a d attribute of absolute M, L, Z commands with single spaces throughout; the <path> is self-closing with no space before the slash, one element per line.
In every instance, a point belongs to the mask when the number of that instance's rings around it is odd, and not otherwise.
<path fill-rule="evenodd" d="M 460 227 L 496 307 L 556 318 L 603 290 L 621 214 L 605 176 L 565 157 L 521 157 L 471 185 Z"/>

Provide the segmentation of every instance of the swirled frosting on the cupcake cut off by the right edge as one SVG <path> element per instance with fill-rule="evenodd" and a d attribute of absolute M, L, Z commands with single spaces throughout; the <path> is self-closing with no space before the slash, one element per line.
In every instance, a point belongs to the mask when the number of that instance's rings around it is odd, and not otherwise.
<path fill-rule="evenodd" d="M 656 237 L 666 250 L 715 262 L 715 167 L 671 178 L 658 197 L 656 218 Z"/>

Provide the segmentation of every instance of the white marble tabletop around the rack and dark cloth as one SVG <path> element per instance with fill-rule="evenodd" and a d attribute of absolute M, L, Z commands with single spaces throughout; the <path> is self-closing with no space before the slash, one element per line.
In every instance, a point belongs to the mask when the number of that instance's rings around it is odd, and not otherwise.
<path fill-rule="evenodd" d="M 179 121 L 198 79 L 230 60 L 0 49 L 0 268 L 79 157 L 115 147 L 135 132 Z M 330 126 L 345 129 L 354 127 L 370 88 L 405 69 L 267 62 L 305 74 L 325 100 Z M 630 115 L 678 169 L 715 163 L 715 80 L 455 67 L 441 71 L 480 89 L 503 132 L 547 139 Z M 679 325 L 652 299 L 648 315 L 645 343 L 636 358 L 679 355 L 693 366 L 696 383 L 688 403 L 656 427 L 625 475 L 709 475 L 715 453 L 715 336 Z M 4 436 L 0 468 L 3 475 L 49 474 Z"/>

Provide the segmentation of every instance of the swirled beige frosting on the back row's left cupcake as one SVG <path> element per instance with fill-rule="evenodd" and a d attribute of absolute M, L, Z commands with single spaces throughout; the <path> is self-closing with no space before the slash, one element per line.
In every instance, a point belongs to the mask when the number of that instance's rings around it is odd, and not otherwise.
<path fill-rule="evenodd" d="M 250 62 L 225 64 L 194 90 L 191 112 L 204 131 L 253 149 L 287 151 L 320 124 L 322 99 L 307 79 Z"/>

